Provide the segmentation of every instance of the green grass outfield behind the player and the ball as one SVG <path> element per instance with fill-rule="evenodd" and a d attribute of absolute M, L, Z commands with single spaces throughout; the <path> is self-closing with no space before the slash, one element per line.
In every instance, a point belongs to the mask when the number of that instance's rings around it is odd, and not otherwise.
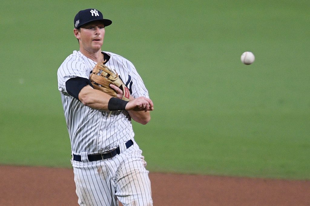
<path fill-rule="evenodd" d="M 150 171 L 310 179 L 309 1 L 2 2 L 0 164 L 71 166 L 56 71 L 91 7 L 155 104 Z"/>

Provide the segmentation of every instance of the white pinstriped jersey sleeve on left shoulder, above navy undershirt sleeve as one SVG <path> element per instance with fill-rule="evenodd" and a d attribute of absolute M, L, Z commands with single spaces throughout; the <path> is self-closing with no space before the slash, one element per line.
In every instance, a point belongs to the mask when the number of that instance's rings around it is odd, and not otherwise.
<path fill-rule="evenodd" d="M 66 82 L 76 77 L 89 79 L 89 71 L 81 59 L 74 55 L 70 55 L 60 65 L 57 71 L 58 90 L 63 94 L 69 94 Z"/>

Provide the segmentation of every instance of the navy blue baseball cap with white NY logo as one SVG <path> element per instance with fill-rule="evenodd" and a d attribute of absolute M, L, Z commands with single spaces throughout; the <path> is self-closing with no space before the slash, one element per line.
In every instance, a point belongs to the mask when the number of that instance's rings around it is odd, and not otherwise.
<path fill-rule="evenodd" d="M 96 9 L 85 9 L 85 10 L 79 11 L 77 15 L 75 15 L 74 22 L 73 22 L 74 28 L 78 29 L 86 23 L 97 21 L 97 20 L 102 21 L 105 27 L 112 23 L 110 19 L 104 19 L 100 11 Z"/>

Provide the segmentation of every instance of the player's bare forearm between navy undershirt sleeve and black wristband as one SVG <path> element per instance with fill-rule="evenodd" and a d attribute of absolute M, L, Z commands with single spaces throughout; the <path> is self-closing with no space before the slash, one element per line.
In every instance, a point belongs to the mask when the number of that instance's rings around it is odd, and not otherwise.
<path fill-rule="evenodd" d="M 93 109 L 108 111 L 108 102 L 111 96 L 102 91 L 95 90 L 91 86 L 85 86 L 78 95 L 79 100 Z"/>

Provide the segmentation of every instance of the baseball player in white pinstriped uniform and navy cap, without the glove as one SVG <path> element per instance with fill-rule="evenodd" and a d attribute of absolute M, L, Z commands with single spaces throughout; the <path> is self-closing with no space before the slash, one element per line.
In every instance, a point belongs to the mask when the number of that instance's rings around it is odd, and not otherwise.
<path fill-rule="evenodd" d="M 79 205 L 153 205 L 142 151 L 134 140 L 131 119 L 150 120 L 153 102 L 134 65 L 117 54 L 101 51 L 105 27 L 112 23 L 100 11 L 86 9 L 74 18 L 79 51 L 57 71 L 58 90 L 69 132 L 74 182 Z M 98 62 L 117 72 L 130 91 L 112 97 L 93 88 L 89 76 Z"/>

